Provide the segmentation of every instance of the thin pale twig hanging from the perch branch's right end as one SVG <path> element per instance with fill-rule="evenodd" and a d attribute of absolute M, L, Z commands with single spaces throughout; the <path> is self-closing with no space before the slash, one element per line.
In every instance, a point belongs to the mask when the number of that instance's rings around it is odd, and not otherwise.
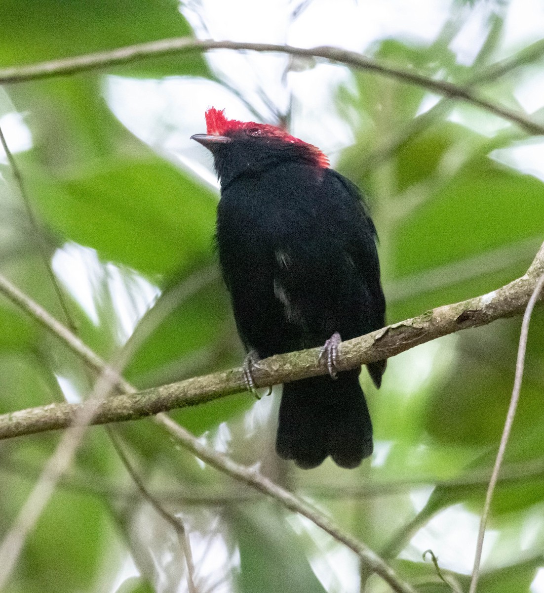
<path fill-rule="evenodd" d="M 544 273 L 540 276 L 536 283 L 533 294 L 527 303 L 527 308 L 521 323 L 520 343 L 517 350 L 516 378 L 514 379 L 514 388 L 512 390 L 510 406 L 508 406 L 508 413 L 506 416 L 506 422 L 504 423 L 503 436 L 501 436 L 497 459 L 495 460 L 495 466 L 493 467 L 491 480 L 489 480 L 489 486 L 485 496 L 484 511 L 482 512 L 480 528 L 478 531 L 478 542 L 476 543 L 476 554 L 474 557 L 474 567 L 472 569 L 472 579 L 469 593 L 475 593 L 476 586 L 478 585 L 480 563 L 482 560 L 482 549 L 484 547 L 485 527 L 489 517 L 489 510 L 491 509 L 491 500 L 493 498 L 495 485 L 497 484 L 498 474 L 501 470 L 501 464 L 503 463 L 504 451 L 506 449 L 506 445 L 508 444 L 508 437 L 510 436 L 514 417 L 516 416 L 517 403 L 520 397 L 521 381 L 523 380 L 523 367 L 525 364 L 525 351 L 527 348 L 527 336 L 529 334 L 529 323 L 531 321 L 531 314 L 533 313 L 533 309 L 535 308 L 536 301 L 539 299 L 540 291 L 542 291 L 543 286 Z"/>

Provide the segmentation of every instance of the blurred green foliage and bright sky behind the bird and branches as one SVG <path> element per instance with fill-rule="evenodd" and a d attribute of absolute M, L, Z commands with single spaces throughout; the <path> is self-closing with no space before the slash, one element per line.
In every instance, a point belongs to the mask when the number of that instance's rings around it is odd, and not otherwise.
<path fill-rule="evenodd" d="M 6 0 L 0 23 L 0 67 L 187 35 L 330 44 L 470 84 L 544 123 L 544 7 L 532 0 Z M 105 359 L 133 336 L 125 376 L 139 388 L 244 357 L 213 253 L 212 157 L 189 140 L 205 131 L 210 106 L 287 126 L 364 190 L 389 323 L 498 288 L 525 272 L 542 243 L 542 138 L 377 72 L 215 50 L 5 85 L 0 127 L 37 228 L 0 152 L 0 273 Z M 424 562 L 427 549 L 466 591 L 519 329 L 520 318 L 502 320 L 409 350 L 389 361 L 380 391 L 363 372 L 376 444 L 356 470 L 327 460 L 303 471 L 276 456 L 280 388 L 172 417 L 311 500 L 418 591 L 451 590 Z M 543 348 L 540 310 L 481 593 L 544 592 Z M 71 352 L 0 299 L 0 412 L 80 401 L 90 387 Z M 185 522 L 199 593 L 389 591 L 350 550 L 204 466 L 152 420 L 118 429 L 149 489 Z M 46 433 L 0 443 L 1 534 L 58 441 Z M 183 592 L 184 566 L 177 534 L 137 493 L 104 429 L 92 428 L 6 590 Z"/>

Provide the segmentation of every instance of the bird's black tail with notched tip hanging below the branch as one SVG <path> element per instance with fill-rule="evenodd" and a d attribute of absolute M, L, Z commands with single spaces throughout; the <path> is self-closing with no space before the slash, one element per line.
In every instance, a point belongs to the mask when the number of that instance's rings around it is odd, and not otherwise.
<path fill-rule="evenodd" d="M 286 383 L 281 397 L 276 451 L 311 469 L 327 455 L 357 467 L 372 455 L 372 422 L 359 385 L 360 369 Z"/>

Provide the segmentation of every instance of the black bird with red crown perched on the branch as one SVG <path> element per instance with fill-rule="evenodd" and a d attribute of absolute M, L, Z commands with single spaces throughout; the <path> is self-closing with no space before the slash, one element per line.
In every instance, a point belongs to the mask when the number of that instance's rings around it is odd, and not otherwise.
<path fill-rule="evenodd" d="M 360 368 L 336 373 L 336 349 L 385 325 L 376 229 L 357 187 L 316 146 L 276 126 L 206 111 L 221 184 L 216 244 L 239 336 L 258 358 L 323 345 L 329 375 L 286 383 L 276 450 L 297 466 L 372 454 Z M 386 361 L 368 365 L 376 387 Z M 251 384 L 251 373 L 248 372 Z"/>

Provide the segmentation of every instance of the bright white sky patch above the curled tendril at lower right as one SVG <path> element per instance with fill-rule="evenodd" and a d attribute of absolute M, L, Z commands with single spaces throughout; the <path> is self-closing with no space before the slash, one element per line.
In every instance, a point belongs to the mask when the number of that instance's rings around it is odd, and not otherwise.
<path fill-rule="evenodd" d="M 423 562 L 421 554 L 431 549 L 439 559 L 440 568 L 469 575 L 476 552 L 479 522 L 479 516 L 467 511 L 465 506 L 450 506 L 421 528 L 399 557 Z M 486 531 L 482 564 L 489 556 L 497 537 L 497 530 Z"/>

